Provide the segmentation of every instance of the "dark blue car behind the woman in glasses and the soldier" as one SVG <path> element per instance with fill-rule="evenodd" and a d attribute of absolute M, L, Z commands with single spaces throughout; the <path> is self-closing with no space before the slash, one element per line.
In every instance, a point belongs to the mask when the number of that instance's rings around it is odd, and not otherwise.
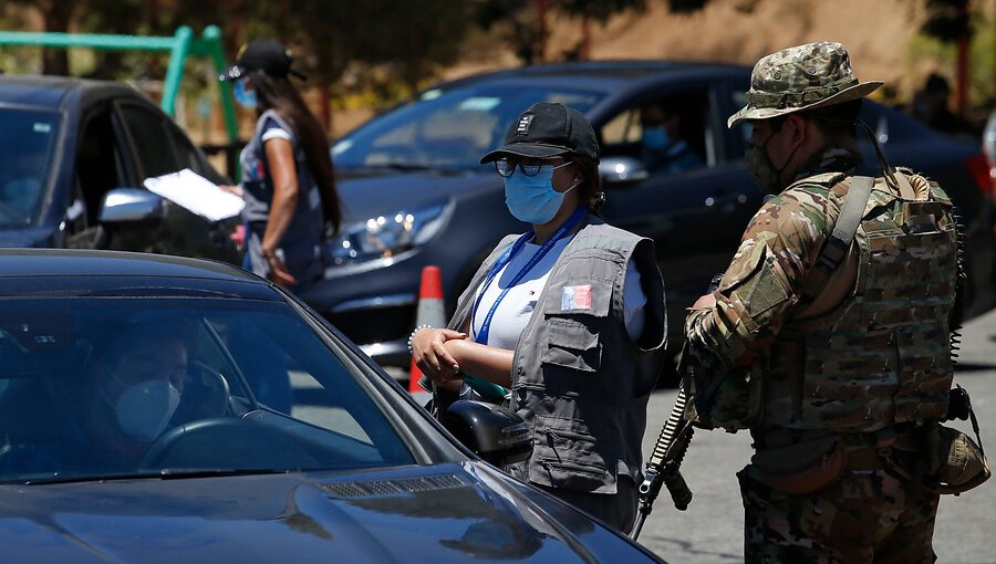
<path fill-rule="evenodd" d="M 481 155 L 533 102 L 583 112 L 602 146 L 605 219 L 651 237 L 667 291 L 672 348 L 685 307 L 729 263 L 761 192 L 744 165 L 748 125 L 727 129 L 744 106 L 750 70 L 666 62 L 585 62 L 522 67 L 439 84 L 339 140 L 332 155 L 346 219 L 332 241 L 333 265 L 303 297 L 374 358 L 406 366 L 424 265 L 438 265 L 452 306 L 501 236 L 521 232 L 500 178 Z M 677 114 L 689 148 L 681 170 L 642 149 L 640 108 Z M 977 146 L 948 139 L 868 102 L 863 119 L 894 166 L 937 179 L 959 207 L 968 240 L 969 313 L 994 305 L 988 173 Z M 861 140 L 869 171 L 878 166 Z"/>

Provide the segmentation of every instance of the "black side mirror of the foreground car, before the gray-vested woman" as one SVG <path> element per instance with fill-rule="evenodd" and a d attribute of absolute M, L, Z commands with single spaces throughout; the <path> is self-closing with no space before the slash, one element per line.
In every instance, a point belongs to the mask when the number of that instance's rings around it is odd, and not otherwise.
<path fill-rule="evenodd" d="M 460 399 L 446 409 L 443 426 L 474 453 L 498 467 L 521 462 L 532 453 L 526 421 L 507 407 Z"/>

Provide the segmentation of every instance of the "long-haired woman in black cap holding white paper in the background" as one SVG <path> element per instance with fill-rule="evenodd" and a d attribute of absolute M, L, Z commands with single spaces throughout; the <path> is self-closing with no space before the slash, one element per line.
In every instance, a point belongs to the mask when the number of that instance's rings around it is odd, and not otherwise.
<path fill-rule="evenodd" d="M 243 267 L 300 293 L 324 271 L 325 226 L 339 230 L 341 209 L 325 132 L 291 84 L 290 74 L 303 79 L 291 63 L 280 42 L 252 41 L 219 79 L 259 115 L 240 157 Z"/>

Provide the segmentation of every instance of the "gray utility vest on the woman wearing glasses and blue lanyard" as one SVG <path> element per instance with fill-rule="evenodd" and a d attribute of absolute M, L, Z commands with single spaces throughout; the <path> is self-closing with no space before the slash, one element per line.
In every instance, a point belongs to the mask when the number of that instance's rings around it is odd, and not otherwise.
<path fill-rule="evenodd" d="M 511 408 L 531 429 L 533 450 L 529 460 L 507 470 L 541 485 L 615 493 L 619 474 L 642 480 L 646 403 L 664 359 L 664 282 L 653 241 L 598 218 L 588 221 L 551 269 L 516 345 Z M 515 239 L 504 239 L 480 265 L 450 327 L 468 320 L 477 290 Z M 623 317 L 631 258 L 647 299 L 637 343 L 630 340 Z M 570 299 L 574 286 L 585 285 L 591 286 L 590 306 Z"/>

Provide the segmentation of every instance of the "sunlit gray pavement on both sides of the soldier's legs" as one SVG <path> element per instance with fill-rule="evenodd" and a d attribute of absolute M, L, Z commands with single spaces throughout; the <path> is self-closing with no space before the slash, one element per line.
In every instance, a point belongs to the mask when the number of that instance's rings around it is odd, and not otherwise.
<path fill-rule="evenodd" d="M 996 449 L 992 447 L 996 445 L 996 312 L 965 326 L 958 366 L 955 382 L 972 393 L 983 441 L 992 453 Z M 645 455 L 653 450 L 674 395 L 660 391 L 651 398 Z M 957 424 L 971 434 L 967 424 Z M 679 512 L 663 491 L 640 542 L 672 563 L 741 562 L 744 512 L 734 473 L 750 457 L 748 443 L 746 434 L 697 431 L 683 466 L 694 494 L 692 505 Z M 959 497 L 943 497 L 934 551 L 940 563 L 996 563 L 996 479 Z"/>

